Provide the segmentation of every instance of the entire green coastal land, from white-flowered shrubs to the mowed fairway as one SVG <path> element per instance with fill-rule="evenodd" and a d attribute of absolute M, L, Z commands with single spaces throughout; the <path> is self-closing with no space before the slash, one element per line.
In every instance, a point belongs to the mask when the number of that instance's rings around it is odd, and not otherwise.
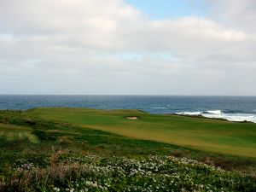
<path fill-rule="evenodd" d="M 256 124 L 138 110 L 0 111 L 1 191 L 253 191 Z"/>

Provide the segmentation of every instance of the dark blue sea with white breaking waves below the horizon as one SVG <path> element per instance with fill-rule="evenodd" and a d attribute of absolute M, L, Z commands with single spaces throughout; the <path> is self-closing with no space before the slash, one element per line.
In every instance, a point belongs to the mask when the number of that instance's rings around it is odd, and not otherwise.
<path fill-rule="evenodd" d="M 68 107 L 136 108 L 148 113 L 181 113 L 256 123 L 256 96 L 8 96 L 0 109 Z"/>

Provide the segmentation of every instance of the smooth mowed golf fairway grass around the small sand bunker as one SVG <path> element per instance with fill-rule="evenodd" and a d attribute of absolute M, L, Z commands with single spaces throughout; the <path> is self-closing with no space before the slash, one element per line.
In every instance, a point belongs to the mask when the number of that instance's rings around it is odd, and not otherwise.
<path fill-rule="evenodd" d="M 157 115 L 137 110 L 36 108 L 26 112 L 125 137 L 171 143 L 220 154 L 256 157 L 256 124 Z M 137 116 L 138 119 L 126 119 Z"/>

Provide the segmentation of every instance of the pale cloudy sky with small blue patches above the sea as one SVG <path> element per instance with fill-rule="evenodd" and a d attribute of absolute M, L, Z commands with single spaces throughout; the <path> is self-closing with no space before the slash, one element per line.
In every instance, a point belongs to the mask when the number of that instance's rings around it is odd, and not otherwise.
<path fill-rule="evenodd" d="M 0 94 L 256 95 L 255 0 L 0 0 Z"/>

